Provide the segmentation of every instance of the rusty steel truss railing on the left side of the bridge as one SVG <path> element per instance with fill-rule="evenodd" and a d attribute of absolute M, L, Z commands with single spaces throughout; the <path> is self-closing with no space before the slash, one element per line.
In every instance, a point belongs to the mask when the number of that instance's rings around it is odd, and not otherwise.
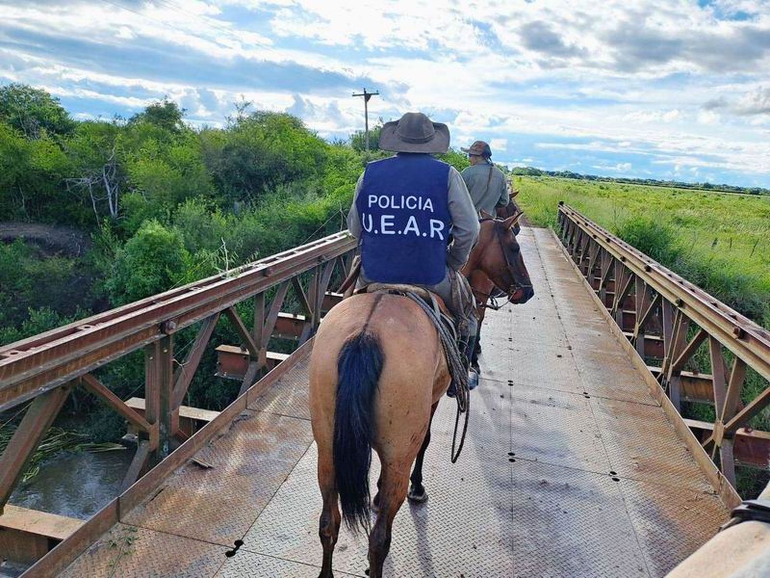
<path fill-rule="evenodd" d="M 138 432 L 136 455 L 123 482 L 127 487 L 149 464 L 169 454 L 172 439 L 186 437 L 179 428 L 179 410 L 219 318 L 229 319 L 243 344 L 243 349 L 229 348 L 246 361 L 238 376 L 243 394 L 271 365 L 267 347 L 273 334 L 285 337 L 288 332 L 300 344 L 313 334 L 330 307 L 330 297 L 336 297 L 327 291 L 334 271 L 350 271 L 355 248 L 356 240 L 346 232 L 333 234 L 0 348 L 0 412 L 28 403 L 0 457 L 0 514 L 72 388 L 90 391 Z M 287 294 L 300 304 L 303 315 L 281 311 Z M 250 328 L 235 307 L 246 300 L 253 301 Z M 196 338 L 184 358 L 176 359 L 175 334 L 192 324 L 199 325 Z M 140 349 L 143 412 L 94 373 Z M 220 361 L 228 352 L 221 352 Z"/>

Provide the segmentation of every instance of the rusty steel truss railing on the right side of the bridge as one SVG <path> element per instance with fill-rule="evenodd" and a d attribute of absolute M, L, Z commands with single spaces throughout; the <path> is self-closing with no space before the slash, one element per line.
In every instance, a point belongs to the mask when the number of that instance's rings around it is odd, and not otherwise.
<path fill-rule="evenodd" d="M 751 425 L 770 404 L 770 332 L 572 207 L 560 203 L 558 223 L 567 253 L 676 411 L 683 402 L 713 408 L 710 421 L 684 422 L 728 482 L 735 487 L 736 462 L 768 469 L 770 433 Z"/>

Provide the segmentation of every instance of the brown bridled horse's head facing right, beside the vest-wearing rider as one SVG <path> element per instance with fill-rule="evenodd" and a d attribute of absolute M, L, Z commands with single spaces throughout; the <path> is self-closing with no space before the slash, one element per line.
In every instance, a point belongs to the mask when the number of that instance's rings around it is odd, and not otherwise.
<path fill-rule="evenodd" d="M 520 211 L 507 219 L 484 217 L 478 243 L 466 266 L 469 271 L 480 270 L 487 275 L 511 303 L 526 303 L 534 295 L 513 231 L 521 214 Z"/>

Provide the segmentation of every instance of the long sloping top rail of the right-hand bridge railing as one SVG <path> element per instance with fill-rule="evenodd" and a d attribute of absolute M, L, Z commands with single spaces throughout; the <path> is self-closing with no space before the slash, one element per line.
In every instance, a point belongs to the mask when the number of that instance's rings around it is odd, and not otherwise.
<path fill-rule="evenodd" d="M 580 230 L 595 235 L 595 240 L 628 269 L 641 277 L 654 291 L 695 321 L 712 337 L 742 358 L 765 379 L 770 379 L 770 332 L 731 309 L 701 288 L 652 260 L 624 240 L 587 219 L 576 210 L 561 204 L 559 212 L 572 220 Z"/>

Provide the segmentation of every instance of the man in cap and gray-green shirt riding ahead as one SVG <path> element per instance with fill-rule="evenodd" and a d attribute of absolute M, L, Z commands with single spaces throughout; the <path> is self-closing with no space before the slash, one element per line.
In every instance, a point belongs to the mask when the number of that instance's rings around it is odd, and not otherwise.
<path fill-rule="evenodd" d="M 508 186 L 503 172 L 490 160 L 492 150 L 483 140 L 460 150 L 467 153 L 470 160 L 470 166 L 461 174 L 477 213 L 494 215 L 497 207 L 508 204 Z"/>

